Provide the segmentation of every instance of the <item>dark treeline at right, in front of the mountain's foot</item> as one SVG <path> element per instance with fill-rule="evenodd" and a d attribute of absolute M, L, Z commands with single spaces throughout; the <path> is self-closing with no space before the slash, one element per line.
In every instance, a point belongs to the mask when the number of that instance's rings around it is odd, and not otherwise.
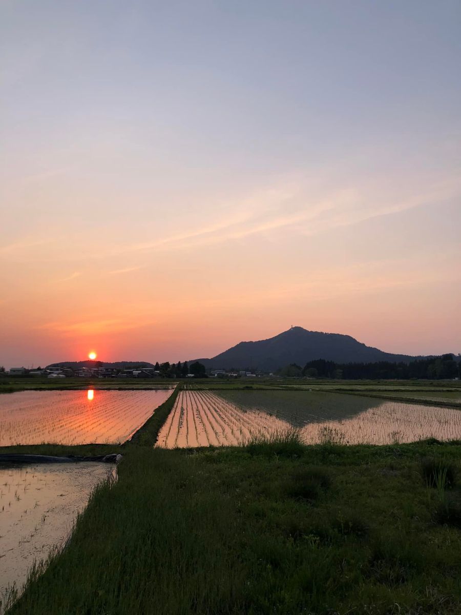
<path fill-rule="evenodd" d="M 459 358 L 459 357 L 458 357 Z M 299 368 L 299 375 L 313 378 L 357 379 L 411 379 L 411 378 L 461 378 L 461 361 L 453 355 L 444 354 L 431 359 L 419 359 L 411 363 L 335 363 L 325 359 L 308 361 L 304 368 L 290 365 L 291 370 Z M 282 370 L 283 371 L 283 370 Z"/>

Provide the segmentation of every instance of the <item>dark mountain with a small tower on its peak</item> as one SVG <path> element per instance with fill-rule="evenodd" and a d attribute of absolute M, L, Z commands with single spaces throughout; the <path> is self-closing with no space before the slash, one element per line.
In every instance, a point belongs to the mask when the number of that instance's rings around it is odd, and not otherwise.
<path fill-rule="evenodd" d="M 307 331 L 291 327 L 274 338 L 256 342 L 240 342 L 212 359 L 195 359 L 207 369 L 240 368 L 274 371 L 279 367 L 297 363 L 304 367 L 307 361 L 327 359 L 336 363 L 371 363 L 390 361 L 409 363 L 420 357 L 406 354 L 391 354 L 366 346 L 350 335 Z M 189 361 L 191 365 L 191 361 Z"/>

